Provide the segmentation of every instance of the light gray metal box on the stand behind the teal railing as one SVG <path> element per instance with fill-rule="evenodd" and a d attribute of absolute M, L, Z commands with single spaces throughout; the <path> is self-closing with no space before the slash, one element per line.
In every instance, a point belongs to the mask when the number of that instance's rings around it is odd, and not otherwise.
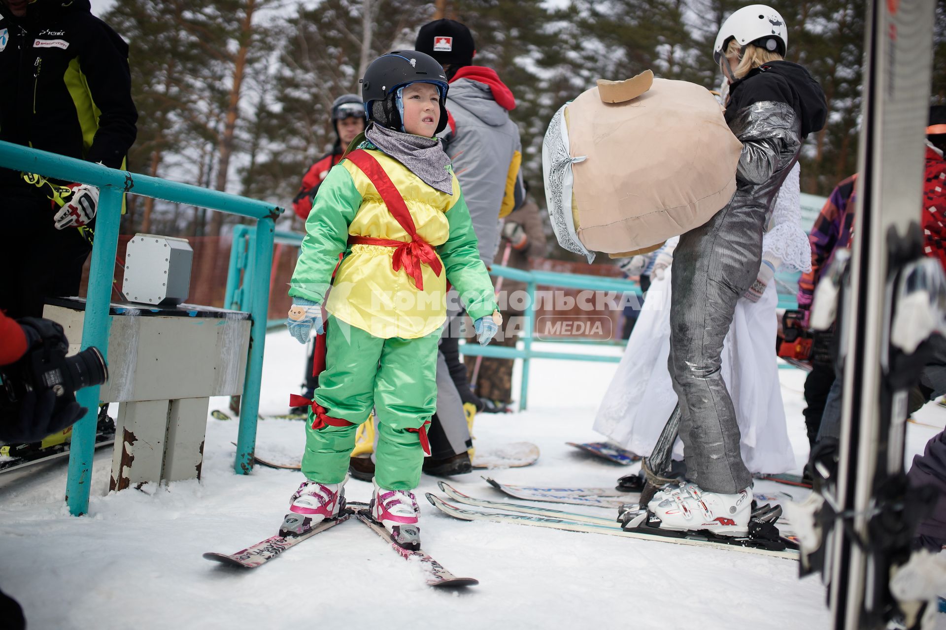
<path fill-rule="evenodd" d="M 125 252 L 125 298 L 139 304 L 176 306 L 190 291 L 194 250 L 186 239 L 135 234 Z"/>

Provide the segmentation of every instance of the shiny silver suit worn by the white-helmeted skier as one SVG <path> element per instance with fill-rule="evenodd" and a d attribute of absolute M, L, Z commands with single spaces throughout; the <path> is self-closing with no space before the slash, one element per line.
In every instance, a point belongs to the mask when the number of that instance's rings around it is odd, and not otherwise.
<path fill-rule="evenodd" d="M 773 101 L 737 111 L 729 128 L 743 143 L 736 193 L 705 225 L 683 234 L 674 252 L 668 365 L 687 477 L 706 491 L 731 494 L 751 485 L 752 476 L 720 372 L 723 340 L 736 301 L 759 273 L 762 233 L 802 135 L 796 111 Z"/>

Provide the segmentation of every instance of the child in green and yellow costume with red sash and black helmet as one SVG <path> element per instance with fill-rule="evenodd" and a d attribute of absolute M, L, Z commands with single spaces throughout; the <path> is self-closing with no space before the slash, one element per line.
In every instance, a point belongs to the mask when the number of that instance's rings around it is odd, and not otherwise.
<path fill-rule="evenodd" d="M 447 281 L 481 344 L 501 318 L 460 184 L 435 137 L 447 126 L 440 64 L 412 50 L 383 55 L 365 71 L 361 94 L 369 126 L 319 189 L 289 289 L 287 326 L 300 343 L 313 328 L 323 332 L 323 307 L 328 316 L 302 460 L 307 481 L 290 499 L 287 523 L 300 523 L 301 534 L 339 515 L 356 429 L 375 409 L 372 517 L 416 549 L 412 489 L 429 454 Z"/>

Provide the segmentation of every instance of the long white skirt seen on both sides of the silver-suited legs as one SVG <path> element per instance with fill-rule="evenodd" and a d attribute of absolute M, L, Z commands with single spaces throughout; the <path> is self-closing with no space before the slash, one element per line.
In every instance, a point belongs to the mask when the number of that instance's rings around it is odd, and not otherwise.
<path fill-rule="evenodd" d="M 594 422 L 595 431 L 645 456 L 654 450 L 676 405 L 667 369 L 672 269 L 663 280 L 652 281 Z M 740 299 L 736 303 L 723 349 L 723 380 L 736 408 L 743 460 L 750 472 L 795 468 L 775 353 L 779 298 L 774 284 L 769 284 L 758 302 Z M 674 459 L 682 458 L 683 444 L 677 440 Z"/>

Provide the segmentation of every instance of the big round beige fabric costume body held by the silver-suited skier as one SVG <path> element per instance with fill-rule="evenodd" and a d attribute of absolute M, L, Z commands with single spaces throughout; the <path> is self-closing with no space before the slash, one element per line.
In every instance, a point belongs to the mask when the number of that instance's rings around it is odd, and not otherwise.
<path fill-rule="evenodd" d="M 743 145 L 695 83 L 657 78 L 622 103 L 604 103 L 595 87 L 565 114 L 569 153 L 586 158 L 571 164 L 571 213 L 589 250 L 653 249 L 706 223 L 736 191 Z"/>

